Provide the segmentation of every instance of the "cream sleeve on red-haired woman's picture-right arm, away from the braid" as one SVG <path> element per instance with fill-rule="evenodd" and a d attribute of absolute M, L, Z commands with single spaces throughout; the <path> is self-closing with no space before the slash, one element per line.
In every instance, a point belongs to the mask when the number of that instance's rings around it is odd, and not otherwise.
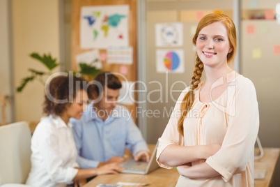
<path fill-rule="evenodd" d="M 247 78 L 236 84 L 228 102 L 227 131 L 221 149 L 206 163 L 229 181 L 233 174 L 245 170 L 258 135 L 259 114 L 254 84 Z"/>

